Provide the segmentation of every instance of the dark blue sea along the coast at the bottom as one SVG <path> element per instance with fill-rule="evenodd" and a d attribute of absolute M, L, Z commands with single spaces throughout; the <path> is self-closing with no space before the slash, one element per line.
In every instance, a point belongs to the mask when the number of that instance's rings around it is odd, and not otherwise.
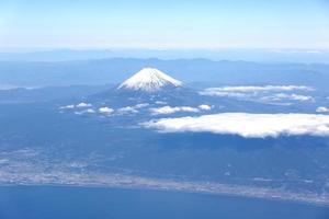
<path fill-rule="evenodd" d="M 329 207 L 205 194 L 54 186 L 0 187 L 1 219 L 328 219 Z"/>

